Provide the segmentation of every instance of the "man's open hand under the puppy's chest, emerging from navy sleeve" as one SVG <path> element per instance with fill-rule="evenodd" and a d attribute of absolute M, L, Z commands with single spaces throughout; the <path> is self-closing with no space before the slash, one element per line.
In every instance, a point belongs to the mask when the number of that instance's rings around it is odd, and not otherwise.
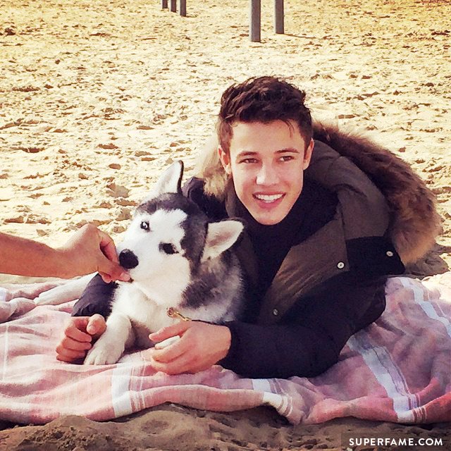
<path fill-rule="evenodd" d="M 180 340 L 161 350 L 151 348 L 143 352 L 156 371 L 167 374 L 197 373 L 209 369 L 226 357 L 231 334 L 226 326 L 182 321 L 151 333 L 149 338 L 161 342 L 179 335 Z"/>

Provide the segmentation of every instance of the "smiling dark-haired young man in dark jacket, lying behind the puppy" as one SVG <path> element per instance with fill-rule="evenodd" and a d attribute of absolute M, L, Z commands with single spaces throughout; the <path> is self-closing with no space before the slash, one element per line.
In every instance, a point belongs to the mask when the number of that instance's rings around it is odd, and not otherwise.
<path fill-rule="evenodd" d="M 236 248 L 248 283 L 245 320 L 159 330 L 152 340 L 181 340 L 146 351 L 154 369 L 195 372 L 219 363 L 249 377 L 316 376 L 382 314 L 386 276 L 404 271 L 387 237 L 387 202 L 350 160 L 312 140 L 304 97 L 272 77 L 224 92 L 218 148 L 184 192 L 211 218 L 246 223 Z M 94 278 L 58 359 L 85 355 L 105 327 L 89 316 L 109 314 L 108 300 L 109 285 Z"/>

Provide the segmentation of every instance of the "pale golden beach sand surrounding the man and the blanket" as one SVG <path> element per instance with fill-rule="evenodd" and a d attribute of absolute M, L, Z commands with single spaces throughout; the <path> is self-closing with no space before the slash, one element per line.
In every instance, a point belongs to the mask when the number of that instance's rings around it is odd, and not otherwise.
<path fill-rule="evenodd" d="M 307 91 L 317 118 L 364 130 L 412 164 L 444 223 L 411 270 L 450 268 L 451 4 L 285 1 L 286 33 L 276 35 L 273 2 L 262 3 L 252 43 L 247 1 L 188 2 L 181 18 L 159 1 L 0 0 L 1 231 L 59 245 L 92 221 L 120 240 L 162 168 L 183 159 L 192 175 L 221 92 L 278 75 Z M 168 404 L 128 421 L 6 429 L 0 450 L 332 450 L 342 431 L 374 427 L 445 435 L 356 419 L 293 427 L 271 409 Z"/>

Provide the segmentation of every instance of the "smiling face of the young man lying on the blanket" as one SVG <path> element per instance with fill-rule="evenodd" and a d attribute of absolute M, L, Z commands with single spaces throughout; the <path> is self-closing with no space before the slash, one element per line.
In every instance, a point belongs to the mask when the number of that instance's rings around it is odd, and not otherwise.
<path fill-rule="evenodd" d="M 239 122 L 230 152 L 219 148 L 238 199 L 259 223 L 277 224 L 288 215 L 304 184 L 314 142 L 306 146 L 295 122 Z"/>

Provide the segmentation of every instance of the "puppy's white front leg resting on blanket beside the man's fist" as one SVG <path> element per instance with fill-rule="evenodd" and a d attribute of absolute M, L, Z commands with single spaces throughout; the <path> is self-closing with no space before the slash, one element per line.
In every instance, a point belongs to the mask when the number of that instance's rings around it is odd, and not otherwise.
<path fill-rule="evenodd" d="M 132 334 L 128 316 L 112 313 L 106 320 L 106 330 L 87 353 L 85 365 L 115 364 L 125 350 L 125 343 Z"/>

